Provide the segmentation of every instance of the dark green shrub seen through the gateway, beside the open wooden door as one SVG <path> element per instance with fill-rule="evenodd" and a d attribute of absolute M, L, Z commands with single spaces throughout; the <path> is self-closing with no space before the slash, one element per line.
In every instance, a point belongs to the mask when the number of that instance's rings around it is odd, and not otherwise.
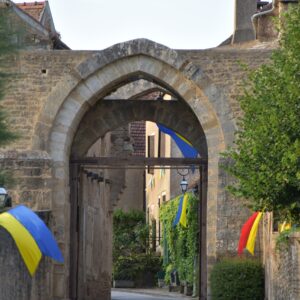
<path fill-rule="evenodd" d="M 154 286 L 161 258 L 146 253 L 149 227 L 141 211 L 114 212 L 113 278 L 133 280 L 136 286 Z"/>

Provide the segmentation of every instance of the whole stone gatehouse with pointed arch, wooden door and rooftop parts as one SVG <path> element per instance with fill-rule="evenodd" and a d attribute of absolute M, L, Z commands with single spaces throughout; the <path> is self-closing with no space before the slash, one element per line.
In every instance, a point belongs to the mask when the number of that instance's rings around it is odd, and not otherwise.
<path fill-rule="evenodd" d="M 137 39 L 101 51 L 71 51 L 58 35 L 52 36 L 53 28 L 47 27 L 51 22 L 42 25 L 43 18 L 36 21 L 11 1 L 0 0 L 2 9 L 9 9 L 12 24 L 26 29 L 17 40 L 24 50 L 12 55 L 9 66 L 18 76 L 2 102 L 11 128 L 21 138 L 1 149 L 0 167 L 15 173 L 13 205 L 49 211 L 49 226 L 65 258 L 64 264 L 43 258 L 31 279 L 1 230 L 0 299 L 110 299 L 111 199 L 122 188 L 114 177 L 125 176 L 112 167 L 116 162 L 130 164 L 133 158 L 116 152 L 114 160 L 98 161 L 87 154 L 108 132 L 136 121 L 173 129 L 207 161 L 201 191 L 200 298 L 210 299 L 210 270 L 218 258 L 235 254 L 240 228 L 249 216 L 225 191 L 231 178 L 220 167 L 228 163 L 220 152 L 232 145 L 241 115 L 237 97 L 246 74 L 240 61 L 250 68 L 268 62 L 278 46 L 271 16 L 280 14 L 288 2 L 274 0 L 270 11 L 257 13 L 256 1 L 236 0 L 233 36 L 213 49 L 174 50 Z M 132 97 L 149 91 L 143 90 L 142 82 L 137 93 L 126 92 L 121 100 L 109 98 L 141 80 L 166 90 L 177 101 Z M 130 144 L 128 139 L 121 142 L 123 150 L 132 153 Z M 100 150 L 94 153 L 103 155 Z M 294 246 L 289 254 L 293 261 L 299 261 L 297 249 Z M 263 243 L 258 250 L 266 250 Z M 275 280 L 267 282 L 272 285 Z M 299 296 L 295 286 L 296 296 L 290 299 Z M 273 295 L 276 288 L 269 289 Z"/>

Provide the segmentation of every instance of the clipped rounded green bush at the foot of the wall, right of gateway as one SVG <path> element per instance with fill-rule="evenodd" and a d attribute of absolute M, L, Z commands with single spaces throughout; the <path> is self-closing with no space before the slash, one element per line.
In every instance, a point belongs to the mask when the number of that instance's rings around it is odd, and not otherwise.
<path fill-rule="evenodd" d="M 212 300 L 263 300 L 264 270 L 258 261 L 226 259 L 214 265 Z"/>

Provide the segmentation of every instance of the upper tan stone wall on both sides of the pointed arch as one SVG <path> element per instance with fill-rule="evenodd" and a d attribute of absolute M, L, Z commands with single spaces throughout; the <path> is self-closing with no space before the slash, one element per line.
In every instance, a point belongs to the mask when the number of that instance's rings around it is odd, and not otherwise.
<path fill-rule="evenodd" d="M 84 59 L 99 53 L 96 51 L 23 51 L 11 58 L 10 71 L 15 73 L 11 88 L 2 102 L 9 115 L 9 122 L 13 130 L 17 131 L 21 138 L 9 149 L 31 149 L 39 146 L 45 149 L 45 145 L 33 145 L 35 134 L 40 137 L 47 135 L 46 128 L 40 126 L 38 132 L 34 132 L 39 113 L 45 103 L 52 102 L 49 95 L 60 83 L 72 74 L 72 70 Z M 241 82 L 245 78 L 245 70 L 240 62 L 255 68 L 268 61 L 270 50 L 200 50 L 179 51 L 179 54 L 187 60 L 201 67 L 202 72 L 207 73 L 215 84 L 220 86 L 229 97 L 234 117 L 240 113 L 236 101 L 241 93 Z M 59 97 L 64 89 L 72 82 L 66 81 L 64 87 L 52 95 Z"/>

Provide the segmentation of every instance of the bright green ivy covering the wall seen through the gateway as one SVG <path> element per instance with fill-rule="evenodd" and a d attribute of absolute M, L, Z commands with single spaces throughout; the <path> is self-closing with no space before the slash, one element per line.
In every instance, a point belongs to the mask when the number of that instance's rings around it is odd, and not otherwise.
<path fill-rule="evenodd" d="M 160 208 L 160 221 L 163 224 L 162 246 L 167 247 L 168 259 L 164 260 L 165 280 L 170 282 L 170 273 L 176 269 L 180 281 L 192 284 L 194 279 L 194 263 L 198 244 L 198 199 L 188 194 L 187 228 L 180 224 L 173 226 L 180 196 L 166 202 Z"/>

